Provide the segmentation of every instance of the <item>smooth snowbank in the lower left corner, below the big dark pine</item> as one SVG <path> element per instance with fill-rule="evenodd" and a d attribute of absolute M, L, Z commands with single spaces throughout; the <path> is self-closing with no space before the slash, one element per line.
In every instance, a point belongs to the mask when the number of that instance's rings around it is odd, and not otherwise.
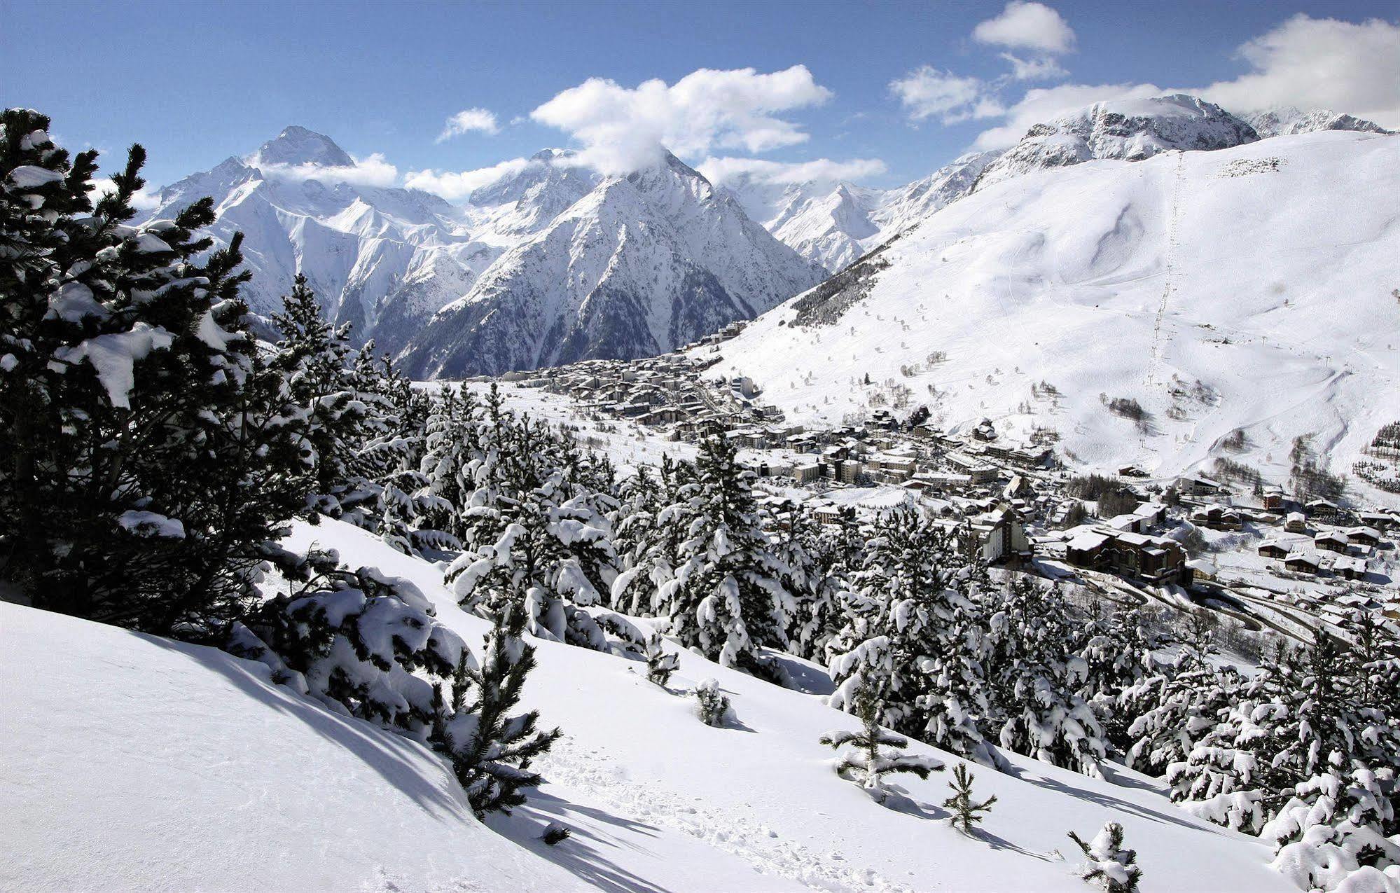
<path fill-rule="evenodd" d="M 0 889 L 587 889 L 256 663 L 8 603 L 0 642 Z"/>

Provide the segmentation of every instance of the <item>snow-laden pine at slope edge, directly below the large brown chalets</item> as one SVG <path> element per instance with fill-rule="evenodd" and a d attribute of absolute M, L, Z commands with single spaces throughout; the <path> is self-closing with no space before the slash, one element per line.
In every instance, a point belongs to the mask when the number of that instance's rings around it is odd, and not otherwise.
<path fill-rule="evenodd" d="M 990 620 L 987 675 L 1001 746 L 1102 777 L 1103 728 L 1079 696 L 1088 663 L 1068 652 L 1068 606 L 1018 577 Z"/>

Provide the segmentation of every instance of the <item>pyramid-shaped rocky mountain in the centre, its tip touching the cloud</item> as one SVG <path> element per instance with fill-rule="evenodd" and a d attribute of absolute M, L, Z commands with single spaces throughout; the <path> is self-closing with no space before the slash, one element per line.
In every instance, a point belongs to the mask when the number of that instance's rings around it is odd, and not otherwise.
<path fill-rule="evenodd" d="M 609 178 L 438 311 L 402 360 L 417 377 L 671 350 L 748 319 L 825 272 L 668 155 Z"/>

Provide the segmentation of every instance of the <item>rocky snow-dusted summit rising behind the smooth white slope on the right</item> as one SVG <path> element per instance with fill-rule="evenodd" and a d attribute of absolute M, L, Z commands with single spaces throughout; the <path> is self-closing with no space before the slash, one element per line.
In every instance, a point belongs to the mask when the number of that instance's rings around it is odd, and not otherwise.
<path fill-rule="evenodd" d="M 1228 148 L 1257 139 L 1247 123 L 1197 97 L 1095 102 L 1030 127 L 1019 143 L 987 165 L 974 189 L 1100 158 L 1141 161 L 1172 150 Z"/>

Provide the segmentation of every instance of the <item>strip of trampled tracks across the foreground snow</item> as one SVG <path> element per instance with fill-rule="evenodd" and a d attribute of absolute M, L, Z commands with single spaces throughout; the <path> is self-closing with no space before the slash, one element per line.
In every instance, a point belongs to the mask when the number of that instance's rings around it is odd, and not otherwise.
<path fill-rule="evenodd" d="M 682 796 L 655 781 L 633 781 L 627 770 L 602 749 L 561 740 L 538 761 L 549 784 L 577 789 L 623 817 L 662 824 L 735 855 L 755 871 L 795 880 L 826 893 L 916 893 L 840 852 L 818 852 L 783 840 L 757 815 L 743 808 L 713 808 L 704 798 Z M 836 780 L 833 778 L 833 782 Z"/>

